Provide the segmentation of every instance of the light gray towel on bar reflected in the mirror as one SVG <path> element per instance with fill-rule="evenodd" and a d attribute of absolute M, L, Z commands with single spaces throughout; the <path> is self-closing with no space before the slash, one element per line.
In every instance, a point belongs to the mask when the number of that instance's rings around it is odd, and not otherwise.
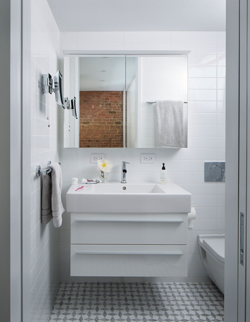
<path fill-rule="evenodd" d="M 157 100 L 156 146 L 184 147 L 183 101 Z"/>

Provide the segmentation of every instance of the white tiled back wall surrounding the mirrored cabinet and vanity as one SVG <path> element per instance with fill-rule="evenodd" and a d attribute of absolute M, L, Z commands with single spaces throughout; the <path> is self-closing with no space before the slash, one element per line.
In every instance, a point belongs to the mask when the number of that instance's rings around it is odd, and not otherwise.
<path fill-rule="evenodd" d="M 204 280 L 198 233 L 224 232 L 225 185 L 204 182 L 204 161 L 225 160 L 225 32 L 79 32 L 60 33 L 62 50 L 190 50 L 188 57 L 188 148 L 123 149 L 62 148 L 63 204 L 71 177 L 93 178 L 91 153 L 105 153 L 114 164 L 108 180 L 120 181 L 121 161 L 127 166 L 128 181 L 159 182 L 161 163 L 168 179 L 192 193 L 197 212 L 188 235 L 188 279 Z M 62 134 L 61 134 L 62 136 Z M 63 142 L 63 137 L 61 137 Z M 155 153 L 155 164 L 141 164 L 141 153 Z M 63 214 L 60 228 L 60 280 L 70 277 L 70 214 Z M 119 279 L 121 280 L 121 279 Z M 177 281 L 177 278 L 174 279 Z M 180 277 L 180 280 L 184 280 Z"/>

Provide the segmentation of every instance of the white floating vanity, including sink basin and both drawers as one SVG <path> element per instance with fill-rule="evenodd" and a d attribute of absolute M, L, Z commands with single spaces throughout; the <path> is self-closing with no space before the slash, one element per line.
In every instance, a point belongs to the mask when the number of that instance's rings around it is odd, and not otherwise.
<path fill-rule="evenodd" d="M 72 185 L 71 276 L 187 276 L 191 194 L 169 183 Z"/>

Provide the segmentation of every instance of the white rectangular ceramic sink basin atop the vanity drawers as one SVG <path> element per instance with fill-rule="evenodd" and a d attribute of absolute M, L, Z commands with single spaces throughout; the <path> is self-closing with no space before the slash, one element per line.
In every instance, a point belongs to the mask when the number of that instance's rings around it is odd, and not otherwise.
<path fill-rule="evenodd" d="M 70 213 L 189 213 L 191 194 L 174 183 L 106 182 L 71 185 L 66 194 Z"/>

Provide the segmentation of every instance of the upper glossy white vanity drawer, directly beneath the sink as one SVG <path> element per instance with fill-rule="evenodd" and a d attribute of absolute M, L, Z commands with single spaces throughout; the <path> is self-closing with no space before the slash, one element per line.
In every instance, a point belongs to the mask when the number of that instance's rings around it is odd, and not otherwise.
<path fill-rule="evenodd" d="M 187 214 L 71 214 L 71 244 L 187 244 Z"/>

